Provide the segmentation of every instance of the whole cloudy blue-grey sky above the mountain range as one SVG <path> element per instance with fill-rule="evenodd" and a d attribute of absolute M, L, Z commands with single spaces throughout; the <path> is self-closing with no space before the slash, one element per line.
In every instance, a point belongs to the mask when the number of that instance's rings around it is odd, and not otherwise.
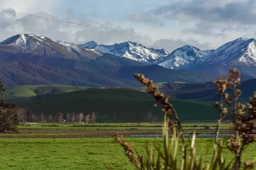
<path fill-rule="evenodd" d="M 0 41 L 33 33 L 76 44 L 131 40 L 172 51 L 185 44 L 214 49 L 239 37 L 256 36 L 256 0 L 0 0 L 0 4 Z"/>

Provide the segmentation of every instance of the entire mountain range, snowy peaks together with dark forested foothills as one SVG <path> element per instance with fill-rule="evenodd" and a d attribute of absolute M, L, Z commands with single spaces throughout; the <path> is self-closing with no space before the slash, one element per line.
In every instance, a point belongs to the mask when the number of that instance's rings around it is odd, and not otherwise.
<path fill-rule="evenodd" d="M 35 34 L 0 42 L 0 78 L 16 85 L 131 86 L 140 72 L 154 82 L 207 82 L 237 66 L 245 79 L 256 77 L 254 39 L 240 38 L 216 50 L 185 45 L 169 52 L 137 42 L 76 45 Z M 214 74 L 213 74 L 214 73 Z"/>

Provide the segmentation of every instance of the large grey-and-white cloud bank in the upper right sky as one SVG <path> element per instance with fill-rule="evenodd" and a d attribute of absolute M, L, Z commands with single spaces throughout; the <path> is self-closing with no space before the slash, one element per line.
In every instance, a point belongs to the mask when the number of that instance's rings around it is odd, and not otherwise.
<path fill-rule="evenodd" d="M 255 0 L 191 0 L 160 6 L 154 13 L 191 23 L 183 33 L 226 38 L 230 31 L 244 34 L 247 26 L 255 27 L 255 11 Z"/>

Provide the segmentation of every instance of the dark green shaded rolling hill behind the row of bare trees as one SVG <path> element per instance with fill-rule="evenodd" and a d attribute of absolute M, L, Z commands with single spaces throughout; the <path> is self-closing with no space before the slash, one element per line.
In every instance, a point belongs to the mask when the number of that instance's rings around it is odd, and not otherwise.
<path fill-rule="evenodd" d="M 116 89 L 87 89 L 29 100 L 19 104 L 29 108 L 36 114 L 55 114 L 95 112 L 102 121 L 140 122 L 146 114 L 152 111 L 153 116 L 163 119 L 160 106 L 154 107 L 154 98 L 137 90 L 124 88 Z M 213 120 L 218 118 L 218 112 L 209 103 L 186 101 L 171 98 L 182 120 Z M 115 113 L 115 114 L 114 114 Z"/>

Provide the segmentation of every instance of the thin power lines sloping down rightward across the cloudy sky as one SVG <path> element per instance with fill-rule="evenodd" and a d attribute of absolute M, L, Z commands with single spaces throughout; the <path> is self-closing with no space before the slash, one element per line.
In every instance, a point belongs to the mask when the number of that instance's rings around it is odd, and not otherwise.
<path fill-rule="evenodd" d="M 71 23 L 71 22 L 67 22 L 67 21 L 55 20 L 55 19 L 51 19 L 51 18 L 38 17 L 38 16 L 35 16 L 35 15 L 24 14 L 24 13 L 21 13 L 21 12 L 14 12 L 14 11 L 5 10 L 5 9 L 2 9 L 2 8 L 0 8 L 0 12 L 7 13 L 7 14 L 13 14 L 13 15 L 21 16 L 21 17 L 26 17 L 26 18 L 31 18 L 31 19 L 35 19 L 35 20 L 42 20 L 42 21 L 46 21 L 46 22 L 50 22 L 50 23 L 58 23 L 58 24 L 61 24 L 61 25 L 66 25 L 66 26 L 73 26 L 73 27 L 78 27 L 78 28 L 90 29 L 90 30 L 94 30 L 94 31 L 102 31 L 102 32 L 107 32 L 107 33 L 112 33 L 112 34 L 121 34 L 121 35 L 126 35 L 126 36 L 131 36 L 131 37 L 138 37 L 138 38 L 150 39 L 150 40 L 158 40 L 158 41 L 163 41 L 163 42 L 171 42 L 171 43 L 182 44 L 182 45 L 186 44 L 186 42 L 184 43 L 184 42 L 180 42 L 180 41 L 163 40 L 163 39 L 160 39 L 160 38 L 154 38 L 154 37 L 160 37 L 160 36 L 154 36 L 154 35 L 149 35 L 149 34 L 141 34 L 141 33 L 131 33 L 131 32 L 128 32 L 128 31 L 120 31 L 120 30 L 110 29 L 110 28 L 82 25 L 82 24 Z M 104 29 L 104 30 L 107 30 L 107 31 L 100 30 L 100 29 Z M 141 37 L 141 36 L 151 36 L 151 37 Z M 168 37 L 163 37 L 163 38 L 168 39 Z M 169 38 L 169 39 L 174 39 L 174 38 Z M 184 40 L 184 41 L 192 41 L 192 40 Z M 192 42 L 195 42 L 195 41 L 192 41 Z M 190 43 L 190 44 L 201 46 L 201 47 L 218 48 L 218 47 L 215 47 L 215 46 L 206 46 L 206 45 L 200 45 L 200 44 L 195 44 L 195 43 Z M 209 43 L 209 44 L 215 44 L 215 43 Z M 220 45 L 220 44 L 216 44 L 216 45 Z"/>

